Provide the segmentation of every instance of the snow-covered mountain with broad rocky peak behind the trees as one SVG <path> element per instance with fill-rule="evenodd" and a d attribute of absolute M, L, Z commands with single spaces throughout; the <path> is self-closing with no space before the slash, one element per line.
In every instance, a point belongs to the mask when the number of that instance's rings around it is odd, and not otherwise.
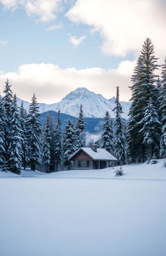
<path fill-rule="evenodd" d="M 18 105 L 21 104 L 21 100 L 18 99 Z M 80 104 L 82 104 L 82 109 L 84 111 L 84 117 L 101 117 L 103 118 L 106 111 L 110 113 L 111 117 L 115 117 L 112 109 L 115 107 L 115 97 L 107 100 L 101 94 L 95 94 L 88 89 L 81 87 L 75 91 L 67 94 L 62 100 L 55 104 L 45 104 L 40 103 L 40 113 L 45 111 L 53 110 L 60 111 L 67 115 L 72 115 L 73 117 L 78 117 Z M 130 108 L 130 102 L 121 102 L 124 114 L 123 118 L 128 118 L 128 111 Z M 24 106 L 27 108 L 29 102 L 24 102 Z"/>

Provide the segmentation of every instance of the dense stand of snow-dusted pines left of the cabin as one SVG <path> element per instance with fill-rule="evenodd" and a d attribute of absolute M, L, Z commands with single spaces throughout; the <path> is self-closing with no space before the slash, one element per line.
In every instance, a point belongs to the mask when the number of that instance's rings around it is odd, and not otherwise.
<path fill-rule="evenodd" d="M 67 121 L 62 134 L 60 111 L 54 124 L 47 115 L 43 128 L 39 121 L 39 104 L 35 94 L 27 113 L 23 106 L 18 107 L 16 94 L 11 85 L 5 82 L 4 96 L 0 96 L 0 165 L 2 171 L 20 174 L 21 168 L 44 165 L 45 171 L 57 171 L 58 166 L 70 166 L 69 156 L 79 147 L 84 147 L 85 124 L 82 106 L 77 123 Z"/>

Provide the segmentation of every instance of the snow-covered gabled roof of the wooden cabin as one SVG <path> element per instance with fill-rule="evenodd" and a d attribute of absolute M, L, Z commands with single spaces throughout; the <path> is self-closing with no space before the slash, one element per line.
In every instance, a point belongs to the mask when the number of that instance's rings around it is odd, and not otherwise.
<path fill-rule="evenodd" d="M 97 149 L 97 152 L 95 152 L 93 149 L 85 147 L 78 149 L 72 156 L 69 157 L 69 159 L 73 158 L 73 156 L 75 156 L 75 154 L 77 154 L 77 152 L 81 149 L 91 158 L 93 158 L 93 160 L 117 160 L 117 158 L 112 156 L 112 154 L 105 149 Z"/>

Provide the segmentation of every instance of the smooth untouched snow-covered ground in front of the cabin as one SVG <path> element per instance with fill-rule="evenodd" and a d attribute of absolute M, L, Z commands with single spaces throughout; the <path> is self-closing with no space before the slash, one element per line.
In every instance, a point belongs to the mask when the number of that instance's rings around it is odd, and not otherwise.
<path fill-rule="evenodd" d="M 165 256 L 163 160 L 123 170 L 3 173 L 0 255 Z"/>

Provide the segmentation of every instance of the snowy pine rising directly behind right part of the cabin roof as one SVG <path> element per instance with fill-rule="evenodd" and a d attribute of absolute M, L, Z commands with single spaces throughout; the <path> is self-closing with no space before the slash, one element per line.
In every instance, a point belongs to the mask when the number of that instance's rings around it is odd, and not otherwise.
<path fill-rule="evenodd" d="M 110 123 L 110 114 L 106 111 L 104 117 L 104 124 L 102 126 L 101 148 L 113 152 L 113 131 L 112 124 Z"/>

